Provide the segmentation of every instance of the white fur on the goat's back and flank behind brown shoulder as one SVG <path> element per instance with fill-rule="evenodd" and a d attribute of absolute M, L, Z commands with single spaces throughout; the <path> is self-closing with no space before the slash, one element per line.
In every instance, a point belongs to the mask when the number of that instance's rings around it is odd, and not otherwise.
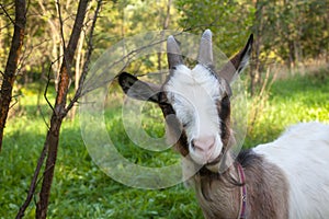
<path fill-rule="evenodd" d="M 292 126 L 253 149 L 282 169 L 290 183 L 290 218 L 329 218 L 329 125 Z"/>

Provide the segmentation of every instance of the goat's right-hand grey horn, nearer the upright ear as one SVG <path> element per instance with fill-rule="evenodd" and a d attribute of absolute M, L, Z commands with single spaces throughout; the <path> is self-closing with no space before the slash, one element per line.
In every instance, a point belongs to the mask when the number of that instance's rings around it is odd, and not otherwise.
<path fill-rule="evenodd" d="M 200 50 L 197 56 L 198 64 L 205 66 L 212 66 L 213 60 L 213 44 L 212 44 L 212 31 L 206 30 L 201 37 Z"/>

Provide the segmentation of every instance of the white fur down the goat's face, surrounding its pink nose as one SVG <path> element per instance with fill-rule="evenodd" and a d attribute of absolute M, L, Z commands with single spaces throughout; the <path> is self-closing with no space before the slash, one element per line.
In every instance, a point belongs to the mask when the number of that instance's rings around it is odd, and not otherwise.
<path fill-rule="evenodd" d="M 217 100 L 224 93 L 220 88 L 215 76 L 202 65 L 196 65 L 192 70 L 184 65 L 177 66 L 164 85 L 178 119 L 185 126 L 190 155 L 198 164 L 216 159 L 223 148 L 216 107 Z M 193 150 L 191 140 L 209 138 L 215 139 L 211 151 L 202 153 Z"/>

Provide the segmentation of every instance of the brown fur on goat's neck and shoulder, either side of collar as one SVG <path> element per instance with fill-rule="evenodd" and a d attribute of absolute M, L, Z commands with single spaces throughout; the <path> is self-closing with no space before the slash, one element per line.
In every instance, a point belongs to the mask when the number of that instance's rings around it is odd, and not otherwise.
<path fill-rule="evenodd" d="M 241 152 L 237 161 L 243 166 L 246 175 L 247 218 L 287 218 L 288 184 L 282 171 L 251 150 Z M 240 185 L 237 178 L 236 165 L 222 175 L 202 170 L 194 176 L 205 218 L 238 218 Z"/>

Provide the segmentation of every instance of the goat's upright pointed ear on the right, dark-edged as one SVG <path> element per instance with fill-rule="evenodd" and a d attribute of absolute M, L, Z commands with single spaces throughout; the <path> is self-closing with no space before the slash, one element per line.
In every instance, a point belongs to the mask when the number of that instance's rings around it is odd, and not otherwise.
<path fill-rule="evenodd" d="M 231 83 L 235 78 L 248 66 L 252 50 L 253 35 L 249 36 L 246 46 L 236 54 L 218 72 L 219 77 Z"/>

